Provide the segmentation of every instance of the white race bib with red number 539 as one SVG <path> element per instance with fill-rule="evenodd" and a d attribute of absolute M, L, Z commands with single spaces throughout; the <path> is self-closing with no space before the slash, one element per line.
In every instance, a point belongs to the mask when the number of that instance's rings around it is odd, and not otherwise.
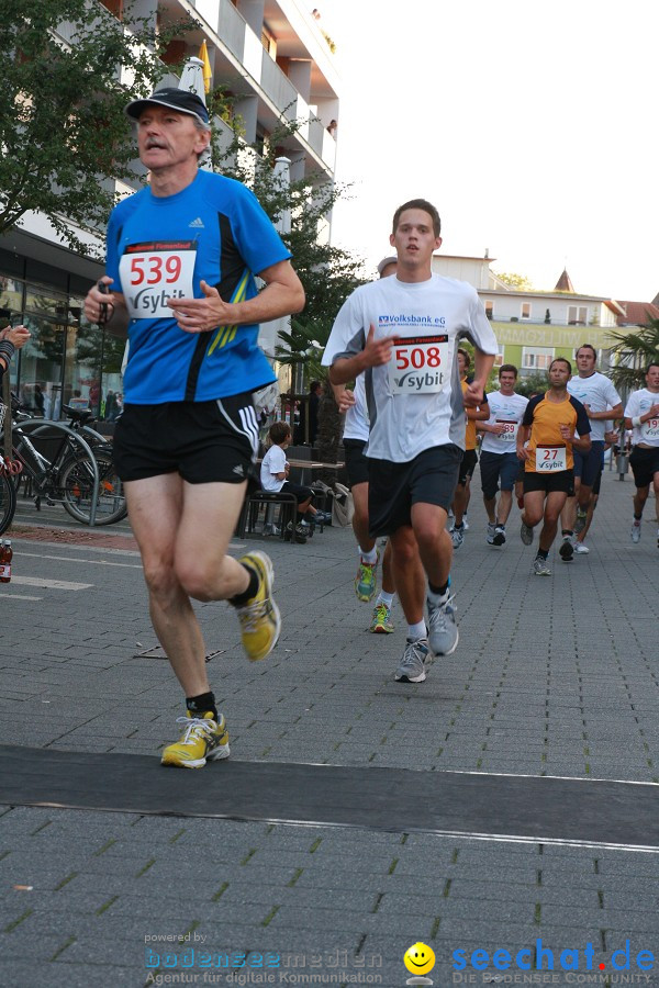
<path fill-rule="evenodd" d="M 171 318 L 168 299 L 192 299 L 196 257 L 196 240 L 152 240 L 127 247 L 119 273 L 131 318 Z"/>

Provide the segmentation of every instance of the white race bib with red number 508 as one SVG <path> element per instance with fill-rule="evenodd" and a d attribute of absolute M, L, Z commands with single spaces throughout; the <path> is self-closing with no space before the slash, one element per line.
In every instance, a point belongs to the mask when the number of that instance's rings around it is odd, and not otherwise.
<path fill-rule="evenodd" d="M 448 388 L 448 336 L 401 336 L 392 346 L 389 386 L 393 394 L 433 394 Z"/>

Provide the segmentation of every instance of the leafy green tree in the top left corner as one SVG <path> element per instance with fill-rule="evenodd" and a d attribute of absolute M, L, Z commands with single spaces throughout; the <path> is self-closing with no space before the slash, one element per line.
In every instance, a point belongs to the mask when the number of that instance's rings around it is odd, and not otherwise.
<path fill-rule="evenodd" d="M 34 210 L 71 249 L 90 252 L 70 224 L 104 226 L 113 179 L 133 175 L 124 106 L 154 90 L 168 70 L 157 56 L 182 30 L 156 35 L 97 0 L 0 0 L 0 235 Z"/>

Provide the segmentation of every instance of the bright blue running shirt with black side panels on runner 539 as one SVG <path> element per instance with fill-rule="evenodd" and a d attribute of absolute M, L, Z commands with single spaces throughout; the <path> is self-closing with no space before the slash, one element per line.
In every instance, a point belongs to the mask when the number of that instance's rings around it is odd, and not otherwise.
<path fill-rule="evenodd" d="M 254 274 L 290 256 L 256 197 L 220 175 L 200 170 L 175 195 L 143 189 L 120 202 L 108 224 L 107 270 L 131 316 L 125 402 L 204 402 L 271 383 L 258 325 L 186 333 L 166 303 L 203 297 L 202 280 L 225 302 L 253 299 Z"/>

